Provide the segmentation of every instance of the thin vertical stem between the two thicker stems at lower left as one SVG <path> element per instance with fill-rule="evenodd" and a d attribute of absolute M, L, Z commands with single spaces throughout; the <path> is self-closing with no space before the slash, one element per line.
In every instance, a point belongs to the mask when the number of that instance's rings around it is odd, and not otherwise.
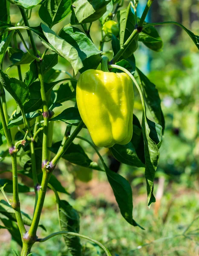
<path fill-rule="evenodd" d="M 36 207 L 37 200 L 38 200 L 38 190 L 37 190 L 38 180 L 37 180 L 34 140 L 32 140 L 30 143 L 30 154 L 31 154 L 31 162 L 32 162 L 32 178 L 33 178 L 33 184 L 35 189 L 35 207 Z M 34 210 L 35 210 L 35 207 L 34 207 Z"/>

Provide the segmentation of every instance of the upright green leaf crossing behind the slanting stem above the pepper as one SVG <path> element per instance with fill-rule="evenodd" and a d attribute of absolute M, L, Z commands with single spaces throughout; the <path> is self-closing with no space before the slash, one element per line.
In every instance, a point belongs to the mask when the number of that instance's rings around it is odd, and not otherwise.
<path fill-rule="evenodd" d="M 120 29 L 120 47 L 123 46 L 123 44 L 127 41 L 127 39 L 132 34 L 133 30 L 135 29 L 135 15 L 131 11 L 131 6 L 129 6 L 125 9 L 122 9 L 118 12 L 118 23 L 119 23 L 119 29 Z M 124 51 L 123 57 L 128 58 L 130 57 L 133 52 L 136 51 L 138 48 L 138 35 L 136 38 L 132 41 L 132 43 L 129 45 L 129 47 Z"/>

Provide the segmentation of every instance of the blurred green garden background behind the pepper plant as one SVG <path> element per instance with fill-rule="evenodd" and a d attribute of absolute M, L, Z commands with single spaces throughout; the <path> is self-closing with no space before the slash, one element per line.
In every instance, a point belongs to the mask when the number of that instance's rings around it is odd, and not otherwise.
<path fill-rule="evenodd" d="M 129 1 L 125 1 L 124 6 L 128 3 Z M 140 3 L 144 5 L 146 2 L 140 0 Z M 38 26 L 41 22 L 38 9 L 39 6 L 32 10 L 32 17 L 29 21 L 31 26 Z M 151 22 L 177 21 L 194 34 L 199 35 L 199 1 L 154 1 L 148 19 Z M 19 11 L 12 5 L 11 21 L 14 24 L 18 20 L 20 20 Z M 53 29 L 59 32 L 68 23 L 67 17 Z M 135 53 L 136 65 L 147 74 L 159 90 L 166 121 L 155 179 L 154 192 L 157 202 L 150 209 L 147 207 L 144 169 L 119 165 L 111 155 L 107 157 L 107 149 L 100 149 L 107 164 L 130 181 L 133 189 L 133 216 L 145 230 L 130 226 L 121 217 L 104 173 L 83 169 L 66 163 L 64 160 L 61 160 L 55 169 L 58 180 L 72 193 L 72 197 L 61 195 L 61 198 L 69 201 L 80 213 L 80 233 L 104 243 L 112 256 L 199 255 L 199 220 L 196 219 L 199 216 L 199 53 L 188 35 L 179 27 L 164 25 L 157 26 L 156 29 L 164 42 L 163 51 L 150 51 L 139 42 Z M 22 34 L 28 43 L 26 31 L 22 31 Z M 92 25 L 91 37 L 98 46 L 101 39 L 98 21 Z M 37 49 L 43 52 L 44 47 L 36 36 L 35 41 Z M 23 47 L 20 41 L 18 47 Z M 104 51 L 109 49 L 110 43 L 105 44 Z M 108 55 L 108 57 L 112 56 Z M 9 65 L 6 57 L 3 70 Z M 24 74 L 29 66 L 21 65 L 21 68 Z M 70 64 L 63 58 L 59 58 L 59 63 L 55 68 L 72 74 Z M 8 74 L 18 78 L 17 67 L 12 67 Z M 61 74 L 59 79 L 63 77 L 66 75 Z M 141 119 L 141 102 L 136 91 L 135 94 L 134 113 Z M 9 95 L 6 96 L 9 115 L 11 115 L 16 105 Z M 73 105 L 74 102 L 67 102 L 62 107 L 55 108 L 55 114 Z M 150 113 L 148 117 L 152 118 Z M 65 129 L 65 124 L 55 123 L 54 142 L 62 140 Z M 81 131 L 81 136 L 90 139 L 86 130 Z M 75 143 L 80 143 L 90 159 L 101 164 L 93 149 L 86 142 L 75 139 Z M 9 158 L 5 158 L 0 163 L 0 172 L 11 168 L 9 161 Z M 8 174 L 0 176 L 8 177 Z M 32 185 L 31 181 L 24 177 L 20 177 L 20 180 Z M 9 195 L 9 198 L 12 198 L 12 195 Z M 0 194 L 0 199 L 3 199 L 2 194 Z M 32 215 L 34 193 L 20 194 L 20 201 L 21 209 Z M 196 220 L 193 221 L 194 219 Z M 39 228 L 39 237 L 60 230 L 55 196 L 50 190 L 46 195 L 41 223 L 45 225 L 47 231 Z M 188 231 L 192 231 L 190 236 L 182 236 L 189 224 L 191 225 Z M 83 255 L 104 255 L 97 246 L 88 244 L 84 240 L 82 244 L 84 245 Z M 0 230 L 1 255 L 14 255 L 11 249 L 20 250 L 16 242 L 12 241 L 9 232 Z M 50 239 L 39 246 L 34 245 L 32 251 L 33 256 L 70 255 L 61 236 Z"/>

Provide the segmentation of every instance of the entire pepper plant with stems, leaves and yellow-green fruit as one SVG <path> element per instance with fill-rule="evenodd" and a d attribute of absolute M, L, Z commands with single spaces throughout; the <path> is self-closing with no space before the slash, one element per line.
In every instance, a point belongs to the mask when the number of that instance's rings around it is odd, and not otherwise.
<path fill-rule="evenodd" d="M 153 1 L 148 0 L 141 17 L 137 17 L 139 0 L 130 1 L 126 8 L 124 0 L 1 0 L 0 144 L 3 151 L 0 155 L 1 161 L 11 157 L 13 178 L 0 180 L 0 190 L 5 197 L 0 201 L 0 219 L 3 223 L 0 228 L 9 230 L 13 239 L 22 246 L 22 256 L 29 255 L 31 250 L 34 252 L 34 244 L 58 235 L 63 235 L 73 256 L 82 255 L 80 238 L 98 244 L 107 256 L 111 255 L 100 242 L 79 234 L 78 212 L 59 198 L 58 193 L 67 194 L 67 191 L 53 175 L 53 170 L 62 157 L 76 165 L 104 172 L 121 215 L 133 226 L 141 227 L 133 219 L 130 183 L 107 167 L 97 146 L 109 148 L 113 157 L 121 163 L 145 167 L 148 206 L 156 201 L 153 180 L 159 162 L 164 116 L 158 90 L 136 67 L 133 53 L 141 43 L 153 51 L 162 50 L 162 39 L 155 28 L 158 25 L 180 26 L 198 49 L 199 36 L 173 21 L 146 23 L 145 18 Z M 19 8 L 21 14 L 16 24 L 10 20 L 9 9 L 12 5 Z M 32 27 L 29 25 L 32 9 L 38 5 L 42 23 Z M 58 34 L 55 33 L 53 26 L 68 15 L 70 23 Z M 101 41 L 98 45 L 93 43 L 90 35 L 93 22 L 101 24 Z M 28 34 L 30 47 L 21 34 L 22 30 Z M 40 52 L 35 44 L 35 35 L 46 47 L 44 52 Z M 19 41 L 26 52 L 17 48 Z M 104 51 L 107 41 L 111 41 L 111 49 Z M 5 70 L 3 61 L 6 54 L 12 65 Z M 73 69 L 73 74 L 65 70 L 66 78 L 61 80 L 58 79 L 60 70 L 53 68 L 58 63 L 58 55 L 65 58 Z M 24 79 L 21 73 L 23 64 L 29 64 Z M 12 78 L 7 71 L 16 67 L 18 78 Z M 81 76 L 78 80 L 79 73 Z M 57 84 L 60 86 L 55 90 Z M 141 123 L 133 114 L 133 84 L 141 97 Z M 8 94 L 5 94 L 5 90 L 17 103 L 17 109 L 11 116 L 7 111 Z M 74 107 L 54 116 L 54 108 L 69 100 Z M 147 118 L 147 108 L 154 120 Z M 54 122 L 64 122 L 67 128 L 63 140 L 53 144 Z M 15 136 L 12 133 L 14 127 L 19 130 Z M 93 142 L 78 136 L 81 129 L 87 128 Z M 103 167 L 90 160 L 80 145 L 73 143 L 75 138 L 86 141 L 95 149 Z M 7 144 L 7 148 L 4 144 Z M 71 157 L 72 154 L 75 157 Z M 23 169 L 19 168 L 18 162 Z M 20 210 L 19 192 L 28 192 L 29 188 L 18 183 L 18 173 L 33 180 L 35 206 L 32 218 Z M 47 187 L 55 192 L 60 230 L 40 238 L 37 237 L 37 228 L 45 229 L 40 224 L 40 215 Z M 12 199 L 7 193 L 12 193 Z"/>

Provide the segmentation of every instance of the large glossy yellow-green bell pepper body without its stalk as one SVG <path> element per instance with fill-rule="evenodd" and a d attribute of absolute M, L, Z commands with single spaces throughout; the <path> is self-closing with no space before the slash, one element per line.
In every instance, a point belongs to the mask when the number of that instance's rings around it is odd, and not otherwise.
<path fill-rule="evenodd" d="M 133 83 L 126 73 L 87 70 L 78 79 L 77 104 L 98 147 L 127 144 L 133 135 Z"/>

